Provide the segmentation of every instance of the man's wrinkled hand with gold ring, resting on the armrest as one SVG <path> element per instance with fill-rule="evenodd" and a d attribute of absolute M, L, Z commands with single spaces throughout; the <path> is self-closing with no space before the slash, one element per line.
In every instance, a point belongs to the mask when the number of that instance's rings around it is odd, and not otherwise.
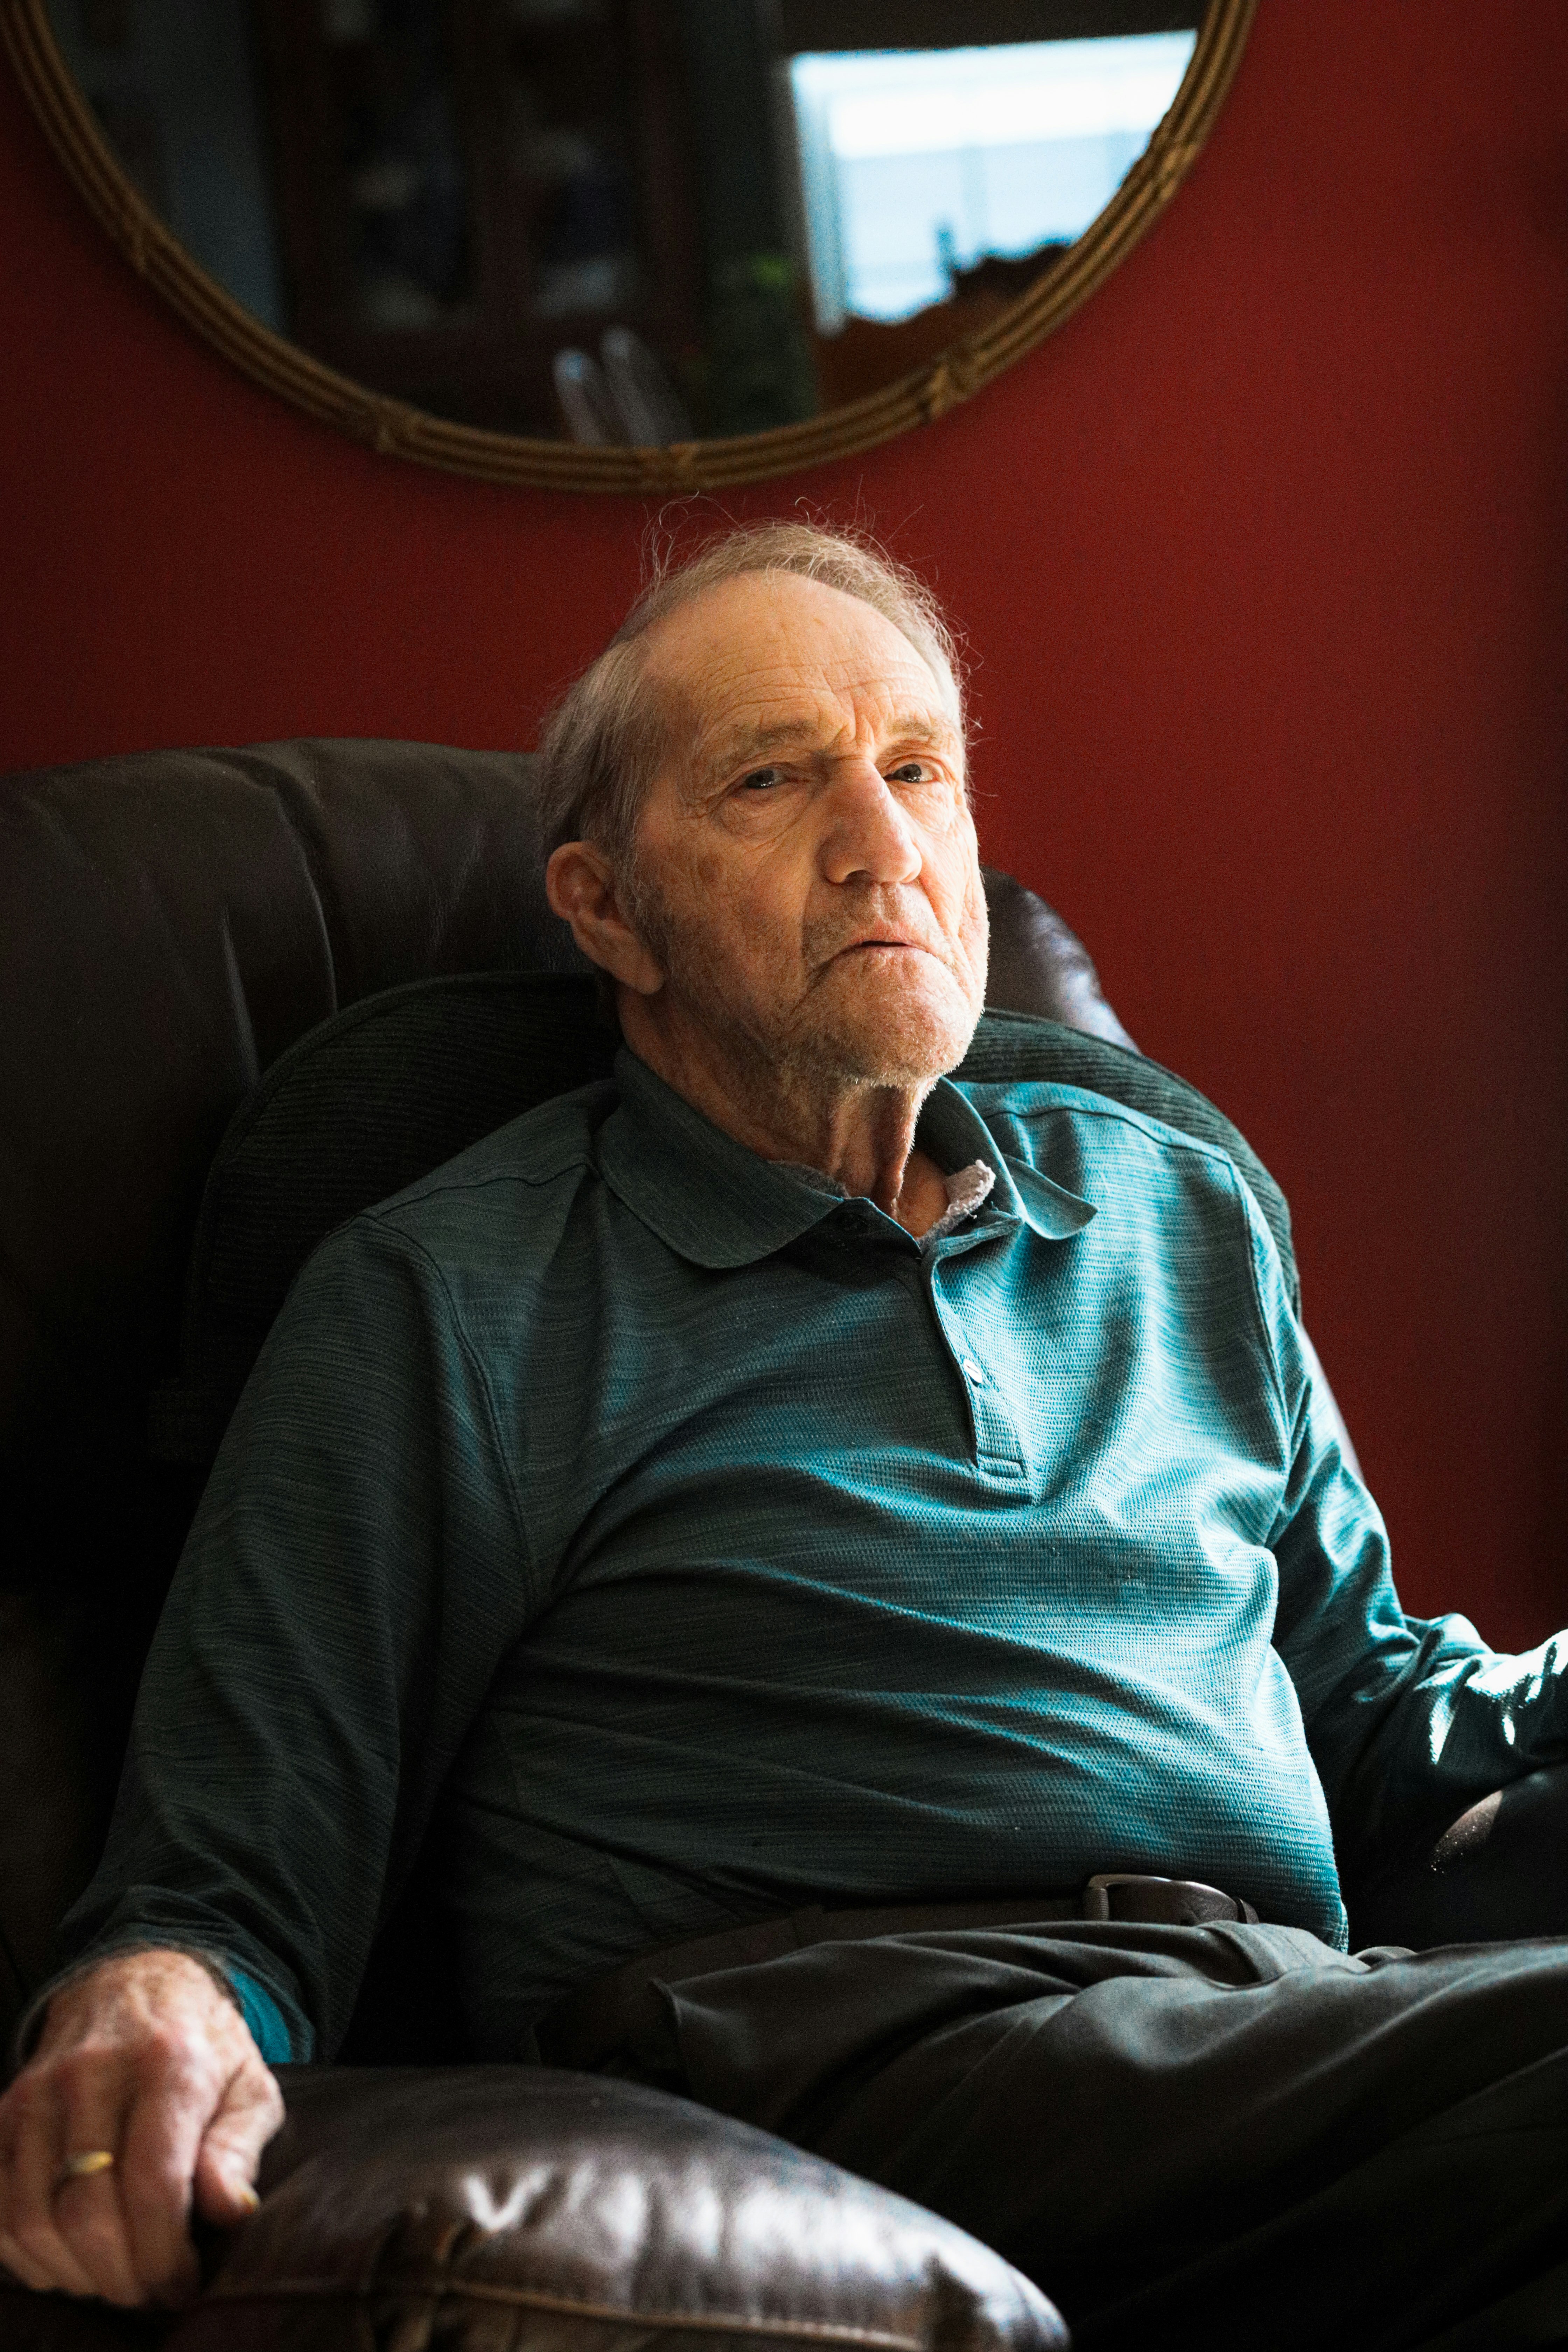
<path fill-rule="evenodd" d="M 190 2209 L 254 2211 L 282 2096 L 240 2011 L 183 1952 L 125 1952 L 49 2002 L 0 2098 L 0 2263 L 108 2303 L 195 2293 Z M 66 2173 L 68 2157 L 113 2154 Z"/>

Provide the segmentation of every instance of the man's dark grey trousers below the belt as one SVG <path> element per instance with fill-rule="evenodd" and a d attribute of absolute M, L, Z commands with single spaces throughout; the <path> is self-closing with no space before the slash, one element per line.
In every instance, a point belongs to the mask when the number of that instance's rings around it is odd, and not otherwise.
<path fill-rule="evenodd" d="M 1048 1922 L 665 1983 L 625 2065 L 1004 2253 L 1079 2352 L 1568 2343 L 1568 1940 Z"/>

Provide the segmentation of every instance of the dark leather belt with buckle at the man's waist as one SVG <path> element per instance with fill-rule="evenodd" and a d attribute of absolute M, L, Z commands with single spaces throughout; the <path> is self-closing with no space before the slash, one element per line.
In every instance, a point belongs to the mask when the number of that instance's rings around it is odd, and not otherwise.
<path fill-rule="evenodd" d="M 1211 1926 L 1225 1919 L 1255 1922 L 1258 1912 L 1239 1896 L 1227 1896 L 1201 1879 L 1159 1879 L 1138 1870 L 1098 1870 L 1074 1893 L 1011 1896 L 1006 1903 L 891 1903 L 844 1910 L 813 1903 L 783 1917 L 661 1945 L 592 1978 L 538 2020 L 538 2056 L 545 2065 L 595 2072 L 656 2025 L 663 2006 L 656 1987 L 686 1976 L 755 1969 L 764 1959 L 783 1959 L 785 1952 L 804 1952 L 813 1943 L 867 1943 L 872 1936 L 922 1936 L 933 1929 L 1044 1926 L 1060 1919 Z"/>

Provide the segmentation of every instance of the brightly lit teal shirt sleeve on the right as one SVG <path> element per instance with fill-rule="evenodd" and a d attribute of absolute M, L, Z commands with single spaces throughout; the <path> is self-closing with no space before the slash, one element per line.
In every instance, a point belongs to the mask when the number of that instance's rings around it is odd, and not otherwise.
<path fill-rule="evenodd" d="M 1403 1613 L 1382 1515 L 1345 1461 L 1255 1209 L 1251 1225 L 1288 1444 L 1269 1536 L 1274 1649 L 1300 1698 L 1340 1865 L 1368 1867 L 1568 1755 L 1568 1642 L 1556 1635 L 1514 1658 L 1488 1649 L 1469 1618 Z"/>

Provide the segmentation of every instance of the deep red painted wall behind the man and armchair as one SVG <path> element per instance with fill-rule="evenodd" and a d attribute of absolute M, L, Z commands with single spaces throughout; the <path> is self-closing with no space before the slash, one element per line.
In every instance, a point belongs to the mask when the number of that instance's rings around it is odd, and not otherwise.
<path fill-rule="evenodd" d="M 0 767 L 529 741 L 644 510 L 374 459 L 155 308 L 0 73 Z M 1295 1204 L 1406 1602 L 1568 1616 L 1568 9 L 1262 0 L 1208 153 L 860 513 L 969 628 L 990 856 Z"/>

